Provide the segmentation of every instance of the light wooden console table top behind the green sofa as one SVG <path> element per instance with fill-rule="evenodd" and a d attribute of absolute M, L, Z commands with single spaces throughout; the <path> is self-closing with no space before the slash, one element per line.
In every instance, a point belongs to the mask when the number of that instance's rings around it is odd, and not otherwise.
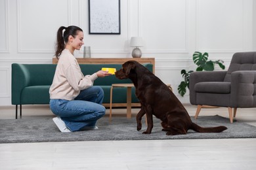
<path fill-rule="evenodd" d="M 155 73 L 155 58 L 76 58 L 79 64 L 123 64 L 129 60 L 135 60 L 139 63 L 152 63 L 153 73 Z M 53 63 L 58 63 L 58 59 L 53 58 Z"/>

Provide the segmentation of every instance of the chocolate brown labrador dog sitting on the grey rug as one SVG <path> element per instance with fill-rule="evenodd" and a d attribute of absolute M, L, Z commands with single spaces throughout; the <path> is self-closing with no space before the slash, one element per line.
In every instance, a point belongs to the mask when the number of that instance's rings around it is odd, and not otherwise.
<path fill-rule="evenodd" d="M 142 127 L 141 119 L 146 114 L 148 127 L 144 134 L 150 134 L 153 128 L 153 115 L 161 120 L 162 131 L 166 135 L 186 134 L 188 129 L 200 133 L 219 133 L 225 126 L 200 127 L 194 124 L 188 112 L 173 92 L 153 73 L 137 61 L 127 61 L 116 71 L 119 79 L 131 79 L 136 88 L 136 95 L 141 109 L 137 114 L 137 130 Z"/>

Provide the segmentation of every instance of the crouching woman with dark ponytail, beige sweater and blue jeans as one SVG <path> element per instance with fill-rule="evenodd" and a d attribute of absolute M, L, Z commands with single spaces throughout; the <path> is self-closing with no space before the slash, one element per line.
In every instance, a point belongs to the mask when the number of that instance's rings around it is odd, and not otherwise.
<path fill-rule="evenodd" d="M 62 36 L 62 32 L 63 36 Z M 102 88 L 93 86 L 98 77 L 111 75 L 98 71 L 84 76 L 74 57 L 83 45 L 83 30 L 77 26 L 60 27 L 55 56 L 58 58 L 53 84 L 49 90 L 54 123 L 62 132 L 98 129 L 96 120 L 104 116 Z"/>

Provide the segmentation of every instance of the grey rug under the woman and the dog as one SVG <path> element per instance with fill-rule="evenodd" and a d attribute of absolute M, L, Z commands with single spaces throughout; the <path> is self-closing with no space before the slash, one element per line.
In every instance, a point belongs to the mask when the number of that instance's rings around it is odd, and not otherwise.
<path fill-rule="evenodd" d="M 249 124 L 229 123 L 228 118 L 221 116 L 199 116 L 192 121 L 202 127 L 226 126 L 222 133 L 197 133 L 189 130 L 186 135 L 167 136 L 161 131 L 160 120 L 154 118 L 154 128 L 150 135 L 137 131 L 135 118 L 127 119 L 114 117 L 109 122 L 108 117 L 98 120 L 98 130 L 76 131 L 61 133 L 52 118 L 0 120 L 0 143 L 37 143 L 60 141 L 121 141 L 121 140 L 156 140 L 156 139 L 227 139 L 227 138 L 255 138 L 256 127 Z"/>

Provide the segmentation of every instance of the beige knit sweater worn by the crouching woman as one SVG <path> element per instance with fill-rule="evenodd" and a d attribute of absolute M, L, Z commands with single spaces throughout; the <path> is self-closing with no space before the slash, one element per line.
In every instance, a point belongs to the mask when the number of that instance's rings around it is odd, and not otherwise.
<path fill-rule="evenodd" d="M 80 90 L 93 86 L 98 76 L 84 76 L 75 57 L 68 49 L 64 49 L 58 59 L 53 84 L 49 90 L 50 99 L 73 100 Z"/>

